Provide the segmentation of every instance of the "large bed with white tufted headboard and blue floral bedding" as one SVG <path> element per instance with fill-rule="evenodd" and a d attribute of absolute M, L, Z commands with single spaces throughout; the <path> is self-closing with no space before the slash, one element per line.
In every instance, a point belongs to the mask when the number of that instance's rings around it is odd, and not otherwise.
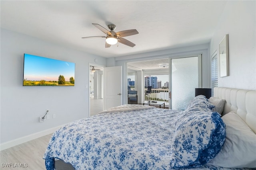
<path fill-rule="evenodd" d="M 47 170 L 256 168 L 256 91 L 214 88 L 184 111 L 123 105 L 58 129 Z"/>

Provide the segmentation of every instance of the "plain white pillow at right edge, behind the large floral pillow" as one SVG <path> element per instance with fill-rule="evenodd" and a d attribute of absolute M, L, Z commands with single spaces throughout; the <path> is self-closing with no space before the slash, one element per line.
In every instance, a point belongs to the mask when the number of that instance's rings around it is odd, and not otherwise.
<path fill-rule="evenodd" d="M 222 119 L 226 124 L 226 141 L 208 164 L 225 168 L 256 168 L 256 134 L 232 111 Z"/>

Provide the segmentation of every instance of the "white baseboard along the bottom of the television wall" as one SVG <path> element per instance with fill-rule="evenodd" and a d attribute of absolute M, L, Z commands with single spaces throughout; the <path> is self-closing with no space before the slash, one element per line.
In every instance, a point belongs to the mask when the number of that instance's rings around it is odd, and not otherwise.
<path fill-rule="evenodd" d="M 0 150 L 8 149 L 8 148 L 14 147 L 16 145 L 20 145 L 22 143 L 25 143 L 25 142 L 37 139 L 39 137 L 48 135 L 50 133 L 54 133 L 57 129 L 59 129 L 62 126 L 63 125 L 60 125 L 60 126 L 57 126 L 57 127 L 53 127 L 51 129 L 46 129 L 44 131 L 40 131 L 40 132 L 37 132 L 37 133 L 32 133 L 32 134 L 24 136 L 24 137 L 20 137 L 20 138 L 11 140 L 11 141 L 1 143 L 0 144 Z"/>

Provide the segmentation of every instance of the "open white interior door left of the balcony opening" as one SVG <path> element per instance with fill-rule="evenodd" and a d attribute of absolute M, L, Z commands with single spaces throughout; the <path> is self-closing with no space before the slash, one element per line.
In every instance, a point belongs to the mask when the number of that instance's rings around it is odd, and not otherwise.
<path fill-rule="evenodd" d="M 104 67 L 104 110 L 122 104 L 122 66 Z"/>

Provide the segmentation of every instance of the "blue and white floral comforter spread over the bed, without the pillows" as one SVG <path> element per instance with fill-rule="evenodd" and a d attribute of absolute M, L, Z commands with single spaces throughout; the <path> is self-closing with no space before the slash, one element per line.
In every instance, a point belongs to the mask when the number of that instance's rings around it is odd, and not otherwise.
<path fill-rule="evenodd" d="M 69 123 L 52 135 L 44 154 L 46 169 L 54 170 L 58 158 L 76 170 L 170 170 L 174 122 L 181 113 L 149 108 L 100 113 Z M 195 169 L 229 168 L 206 164 Z"/>

